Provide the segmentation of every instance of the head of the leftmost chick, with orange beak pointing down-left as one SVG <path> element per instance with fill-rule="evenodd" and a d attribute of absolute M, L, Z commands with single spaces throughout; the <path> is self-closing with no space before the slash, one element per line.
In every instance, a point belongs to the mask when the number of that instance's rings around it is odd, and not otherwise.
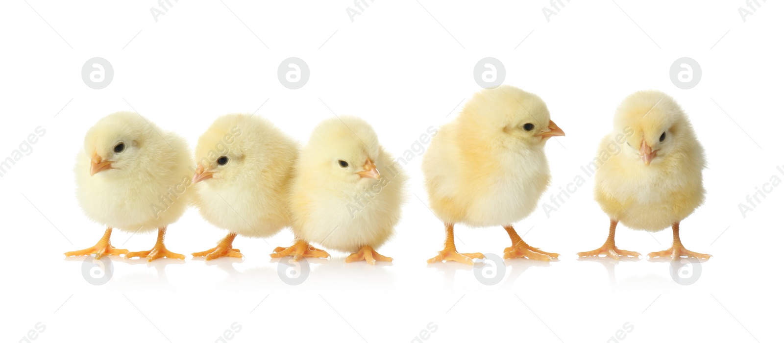
<path fill-rule="evenodd" d="M 165 140 L 158 128 L 139 114 L 117 112 L 103 117 L 85 135 L 85 153 L 90 158 L 91 176 L 118 178 L 138 172 L 162 149 Z M 84 171 L 88 172 L 88 171 Z"/>

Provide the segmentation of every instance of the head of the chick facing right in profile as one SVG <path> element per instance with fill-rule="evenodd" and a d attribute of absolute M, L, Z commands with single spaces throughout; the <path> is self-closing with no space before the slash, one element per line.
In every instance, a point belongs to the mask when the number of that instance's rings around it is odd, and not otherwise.
<path fill-rule="evenodd" d="M 513 150 L 544 146 L 550 137 L 564 135 L 550 120 L 550 110 L 539 96 L 510 85 L 477 92 L 463 107 L 458 122 L 463 132 L 492 137 L 495 144 Z"/>

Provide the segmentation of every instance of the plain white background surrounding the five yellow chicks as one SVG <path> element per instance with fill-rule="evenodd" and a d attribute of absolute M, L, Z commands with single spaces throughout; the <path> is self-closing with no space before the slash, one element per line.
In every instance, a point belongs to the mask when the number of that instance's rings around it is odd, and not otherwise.
<path fill-rule="evenodd" d="M 152 0 L 4 2 L 0 159 L 34 128 L 46 133 L 0 178 L 0 340 L 20 341 L 39 322 L 45 329 L 28 341 L 213 342 L 235 322 L 241 330 L 224 341 L 409 342 L 430 323 L 437 329 L 420 341 L 605 342 L 625 323 L 633 329 L 616 341 L 779 340 L 784 190 L 774 187 L 745 218 L 738 206 L 771 176 L 784 179 L 776 170 L 784 164 L 782 4 L 760 2 L 746 22 L 741 0 L 564 5 L 548 22 L 543 8 L 553 7 L 544 0 L 368 0 L 352 22 L 347 0 L 172 1 L 156 22 Z M 114 67 L 100 90 L 81 77 L 95 56 Z M 310 67 L 297 90 L 277 77 L 290 56 Z M 673 281 L 668 263 L 577 261 L 607 234 L 593 178 L 550 218 L 540 207 L 517 223 L 524 240 L 560 261 L 506 262 L 494 286 L 469 266 L 427 265 L 444 234 L 419 200 L 426 203 L 421 156 L 405 166 L 412 196 L 397 236 L 378 249 L 391 264 L 346 264 L 332 252 L 290 286 L 268 256 L 291 243 L 289 230 L 238 238 L 241 262 L 112 257 L 102 286 L 86 282 L 84 258 L 63 256 L 103 233 L 75 201 L 72 168 L 86 130 L 104 115 L 136 110 L 194 145 L 215 117 L 254 111 L 304 143 L 334 111 L 364 117 L 399 157 L 428 127 L 456 117 L 480 89 L 474 64 L 487 56 L 504 63 L 504 83 L 541 96 L 567 134 L 546 145 L 553 182 L 543 201 L 581 175 L 624 96 L 655 88 L 681 103 L 709 161 L 706 203 L 681 223 L 684 245 L 713 255 L 696 283 Z M 683 56 L 702 67 L 688 90 L 670 80 Z M 166 243 L 190 255 L 224 234 L 190 210 Z M 456 236 L 463 252 L 503 255 L 510 245 L 500 227 L 457 226 Z M 112 239 L 138 251 L 155 237 L 115 230 Z M 671 231 L 619 226 L 616 241 L 647 254 L 670 247 Z"/>

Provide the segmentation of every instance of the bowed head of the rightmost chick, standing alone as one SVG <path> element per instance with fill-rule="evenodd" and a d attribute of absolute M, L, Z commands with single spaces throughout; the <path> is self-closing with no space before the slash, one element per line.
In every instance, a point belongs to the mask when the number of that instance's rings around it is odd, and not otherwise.
<path fill-rule="evenodd" d="M 695 139 L 691 124 L 675 99 L 659 91 L 635 92 L 615 112 L 615 131 L 630 133 L 623 156 L 645 165 L 666 161 Z"/>

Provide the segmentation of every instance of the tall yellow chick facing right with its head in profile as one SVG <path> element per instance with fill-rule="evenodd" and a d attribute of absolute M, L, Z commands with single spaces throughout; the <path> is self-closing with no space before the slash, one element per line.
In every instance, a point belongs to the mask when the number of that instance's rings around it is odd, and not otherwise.
<path fill-rule="evenodd" d="M 512 240 L 504 258 L 550 261 L 558 254 L 526 244 L 512 224 L 530 215 L 550 184 L 544 145 L 564 135 L 539 96 L 509 85 L 477 92 L 455 121 L 441 127 L 422 162 L 430 208 L 446 227 L 444 250 L 428 263 L 473 264 L 456 251 L 454 224 L 503 226 Z"/>

